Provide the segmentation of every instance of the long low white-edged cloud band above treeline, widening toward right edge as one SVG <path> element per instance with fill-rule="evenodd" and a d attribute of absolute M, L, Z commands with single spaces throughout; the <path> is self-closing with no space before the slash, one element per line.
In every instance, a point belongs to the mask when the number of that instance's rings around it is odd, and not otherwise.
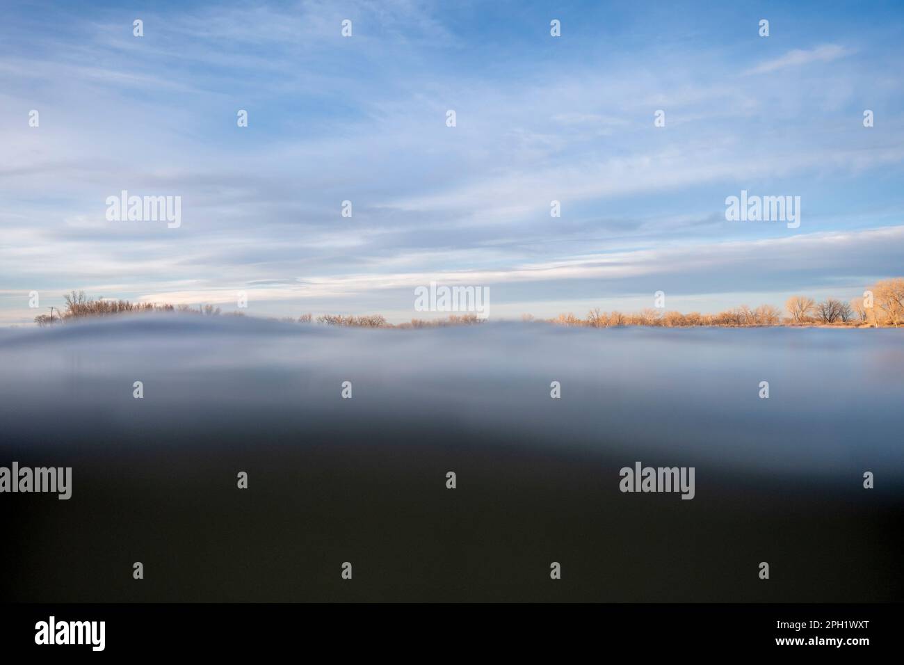
<path fill-rule="evenodd" d="M 504 270 L 372 271 L 317 279 L 297 284 L 247 285 L 254 300 L 354 298 L 371 309 L 369 296 L 378 291 L 413 290 L 437 281 L 446 285 L 504 287 L 555 281 L 593 281 L 599 294 L 636 293 L 645 283 L 674 292 L 733 290 L 756 279 L 759 290 L 796 290 L 826 286 L 838 280 L 858 281 L 869 271 L 891 271 L 904 261 L 904 225 L 851 233 L 811 233 L 759 241 L 685 244 L 663 249 L 586 254 L 555 261 L 526 261 Z M 764 266 L 769 266 L 764 270 Z M 838 266 L 844 266 L 840 270 Z M 830 269 L 824 271 L 824 269 Z M 828 277 L 819 277 L 825 272 Z M 861 287 L 865 287 L 861 283 Z M 652 292 L 652 291 L 651 291 Z M 146 302 L 229 303 L 235 290 L 219 288 L 162 291 L 140 298 Z M 372 302 L 372 299 L 370 299 Z M 497 302 L 498 299 L 497 299 Z M 404 296 L 396 305 L 408 304 Z M 503 304 L 499 302 L 499 304 Z"/>

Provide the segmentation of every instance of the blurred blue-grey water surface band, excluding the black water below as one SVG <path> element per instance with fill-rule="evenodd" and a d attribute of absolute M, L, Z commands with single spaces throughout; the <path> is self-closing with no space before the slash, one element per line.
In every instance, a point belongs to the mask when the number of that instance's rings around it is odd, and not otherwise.
<path fill-rule="evenodd" d="M 7 333 L 0 366 L 6 431 L 42 446 L 83 433 L 72 423 L 127 444 L 145 429 L 191 442 L 225 423 L 250 434 L 304 423 L 303 434 L 390 421 L 423 445 L 454 426 L 555 454 L 641 447 L 808 479 L 862 463 L 904 472 L 904 331 L 893 329 L 361 330 L 162 316 Z"/>

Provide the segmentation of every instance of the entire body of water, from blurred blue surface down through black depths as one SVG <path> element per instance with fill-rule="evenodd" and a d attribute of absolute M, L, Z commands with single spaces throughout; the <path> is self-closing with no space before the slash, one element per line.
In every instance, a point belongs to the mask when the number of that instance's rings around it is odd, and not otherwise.
<path fill-rule="evenodd" d="M 0 598 L 904 600 L 902 369 L 904 330 L 4 331 L 0 466 L 72 498 L 0 494 Z"/>

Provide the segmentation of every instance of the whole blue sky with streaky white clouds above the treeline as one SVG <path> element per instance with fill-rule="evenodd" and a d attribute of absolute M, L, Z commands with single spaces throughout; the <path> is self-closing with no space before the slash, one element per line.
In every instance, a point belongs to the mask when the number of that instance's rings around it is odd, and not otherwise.
<path fill-rule="evenodd" d="M 445 316 L 431 282 L 520 318 L 904 275 L 900 3 L 8 3 L 0 54 L 0 325 L 70 290 L 403 321 Z M 123 190 L 181 225 L 108 220 Z M 799 227 L 728 221 L 742 190 Z"/>

